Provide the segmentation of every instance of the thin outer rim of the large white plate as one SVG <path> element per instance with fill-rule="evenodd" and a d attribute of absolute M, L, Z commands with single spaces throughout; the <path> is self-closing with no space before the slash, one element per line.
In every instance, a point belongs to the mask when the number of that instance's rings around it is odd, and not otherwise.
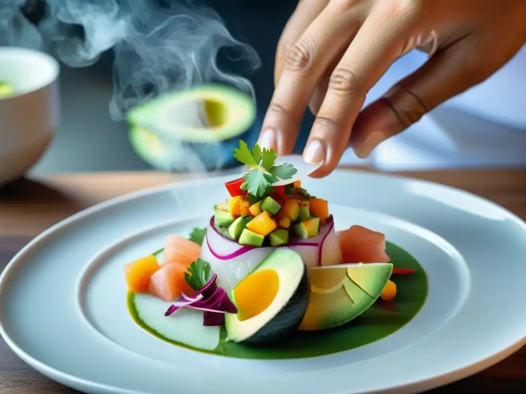
<path fill-rule="evenodd" d="M 354 169 L 352 170 L 337 169 L 333 172 L 340 173 L 342 175 L 344 174 L 358 175 L 358 176 L 363 176 L 366 178 L 378 178 L 378 179 L 398 181 L 398 182 L 416 182 L 421 185 L 429 185 L 432 187 L 443 188 L 443 189 L 446 189 L 446 190 L 449 190 L 455 193 L 459 193 L 461 195 L 463 194 L 463 195 L 468 196 L 469 198 L 473 198 L 478 201 L 482 201 L 484 203 L 490 204 L 491 206 L 493 206 L 493 208 L 497 208 L 501 210 L 502 212 L 505 212 L 507 216 L 509 217 L 509 219 L 513 219 L 515 223 L 519 224 L 522 227 L 522 229 L 526 231 L 526 221 L 524 221 L 517 214 L 511 212 L 507 208 L 504 208 L 502 205 L 499 205 L 480 195 L 477 195 L 475 193 L 472 193 L 466 190 L 462 190 L 462 189 L 459 189 L 459 188 L 456 188 L 450 185 L 446 185 L 446 184 L 442 184 L 442 183 L 438 183 L 434 181 L 429 181 L 429 180 L 412 178 L 412 177 L 405 176 L 405 175 L 397 175 L 397 174 L 392 175 L 392 174 L 368 172 L 368 171 L 354 170 Z M 211 177 L 205 176 L 205 177 L 199 177 L 199 178 L 189 178 L 189 179 L 183 179 L 183 180 L 179 180 L 175 182 L 169 182 L 166 184 L 149 186 L 148 188 L 125 193 L 123 195 L 119 195 L 114 198 L 108 199 L 106 201 L 97 203 L 79 212 L 76 212 L 73 215 L 66 217 L 65 219 L 55 223 L 54 225 L 48 227 L 43 232 L 39 233 L 31 241 L 29 241 L 19 252 L 17 252 L 15 256 L 12 257 L 12 259 L 9 261 L 9 263 L 5 266 L 4 270 L 0 274 L 0 293 L 3 290 L 3 287 L 5 287 L 5 277 L 8 276 L 11 273 L 11 271 L 13 271 L 13 269 L 16 266 L 16 263 L 21 260 L 21 257 L 23 257 L 23 255 L 26 254 L 36 244 L 40 243 L 45 237 L 54 233 L 55 231 L 59 229 L 63 229 L 64 227 L 67 227 L 69 224 L 79 219 L 82 219 L 85 216 L 88 216 L 97 211 L 109 208 L 111 206 L 118 205 L 119 203 L 122 203 L 125 201 L 138 199 L 143 196 L 154 194 L 157 192 L 169 191 L 170 189 L 178 189 L 178 188 L 183 188 L 183 187 L 188 187 L 188 186 L 195 187 L 201 183 L 217 183 L 223 180 L 227 181 L 229 177 L 231 177 L 232 175 L 235 175 L 235 174 L 219 174 L 219 175 L 213 175 Z M 352 205 L 347 205 L 347 206 L 352 206 Z M 44 362 L 35 359 L 33 356 L 29 355 L 22 348 L 20 348 L 15 343 L 15 341 L 6 334 L 2 320 L 0 320 L 0 335 L 5 340 L 9 348 L 11 348 L 11 350 L 19 358 L 25 361 L 29 366 L 33 367 L 35 370 L 41 372 L 42 374 L 47 375 L 47 377 L 53 377 L 52 378 L 53 380 L 59 383 L 62 383 L 63 385 L 68 386 L 70 383 L 75 383 L 77 385 L 82 385 L 86 388 L 104 390 L 107 392 L 115 392 L 119 394 L 155 394 L 154 392 L 136 391 L 136 390 L 130 390 L 126 388 L 119 388 L 116 386 L 106 385 L 104 383 L 99 383 L 96 381 L 88 380 L 82 377 L 78 377 L 78 376 L 69 374 L 67 372 L 60 371 L 59 369 L 56 369 L 54 367 L 49 367 Z M 457 369 L 454 369 L 448 372 L 444 372 L 442 374 L 434 375 L 426 379 L 421 379 L 421 380 L 413 379 L 406 383 L 400 383 L 397 386 L 389 385 L 389 386 L 377 388 L 374 390 L 365 391 L 364 393 L 389 392 L 391 390 L 400 390 L 400 389 L 408 389 L 409 391 L 407 392 L 420 392 L 422 390 L 429 390 L 432 388 L 437 388 L 437 387 L 441 387 L 444 385 L 448 385 L 449 383 L 458 381 L 463 378 L 470 377 L 472 375 L 477 374 L 478 372 L 482 370 L 485 370 L 495 364 L 498 364 L 498 362 L 509 357 L 514 352 L 522 348 L 524 345 L 526 345 L 526 335 L 524 335 L 519 340 L 514 341 L 514 343 L 511 343 L 509 346 L 502 348 L 500 351 L 495 352 L 493 355 L 479 359 L 475 362 L 472 362 L 470 365 L 466 365 L 462 368 L 457 368 Z M 338 394 L 344 394 L 345 392 L 341 392 Z"/>

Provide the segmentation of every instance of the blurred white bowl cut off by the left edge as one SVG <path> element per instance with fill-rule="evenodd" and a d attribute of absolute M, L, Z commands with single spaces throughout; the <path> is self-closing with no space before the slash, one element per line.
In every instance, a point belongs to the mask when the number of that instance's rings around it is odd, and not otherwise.
<path fill-rule="evenodd" d="M 0 81 L 15 90 L 0 98 L 0 185 L 24 175 L 53 139 L 59 72 L 58 62 L 42 52 L 0 47 Z"/>

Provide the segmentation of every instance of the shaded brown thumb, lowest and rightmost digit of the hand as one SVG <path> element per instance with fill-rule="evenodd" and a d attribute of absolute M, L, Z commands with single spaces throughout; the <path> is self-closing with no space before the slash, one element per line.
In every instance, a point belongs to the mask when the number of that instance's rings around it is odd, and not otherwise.
<path fill-rule="evenodd" d="M 493 68 L 480 58 L 483 52 L 474 49 L 478 48 L 464 39 L 436 53 L 363 109 L 349 141 L 358 157 L 368 157 L 379 143 L 418 122 L 442 102 L 479 84 L 499 67 Z"/>

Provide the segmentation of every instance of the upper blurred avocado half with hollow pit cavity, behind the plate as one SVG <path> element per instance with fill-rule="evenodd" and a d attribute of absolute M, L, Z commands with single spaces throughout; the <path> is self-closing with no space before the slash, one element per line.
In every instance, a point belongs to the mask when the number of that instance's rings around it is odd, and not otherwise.
<path fill-rule="evenodd" d="M 138 105 L 128 111 L 126 120 L 134 130 L 182 142 L 219 142 L 244 133 L 255 117 L 250 96 L 228 86 L 208 85 Z M 167 147 L 164 154 L 169 154 Z"/>

